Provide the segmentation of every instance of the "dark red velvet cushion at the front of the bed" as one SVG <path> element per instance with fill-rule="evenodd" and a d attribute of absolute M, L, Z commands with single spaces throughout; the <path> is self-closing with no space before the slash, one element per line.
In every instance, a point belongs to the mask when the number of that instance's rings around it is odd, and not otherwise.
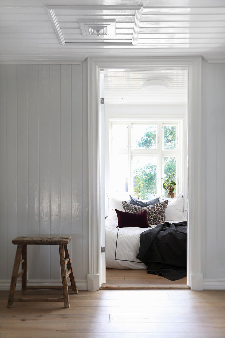
<path fill-rule="evenodd" d="M 117 228 L 149 228 L 148 220 L 147 220 L 147 211 L 143 210 L 139 214 L 133 214 L 130 212 L 124 212 L 120 210 L 116 210 L 118 217 L 118 226 Z"/>

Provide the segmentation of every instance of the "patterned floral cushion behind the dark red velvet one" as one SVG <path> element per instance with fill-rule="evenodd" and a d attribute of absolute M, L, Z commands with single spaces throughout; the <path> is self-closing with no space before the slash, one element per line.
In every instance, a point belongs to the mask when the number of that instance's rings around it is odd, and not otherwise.
<path fill-rule="evenodd" d="M 147 220 L 149 225 L 155 225 L 155 224 L 163 224 L 166 220 L 165 217 L 165 211 L 167 208 L 168 200 L 153 204 L 152 206 L 148 207 L 138 207 L 134 206 L 133 204 L 130 204 L 126 201 L 123 201 L 123 209 L 126 212 L 130 212 L 133 214 L 139 214 L 143 210 L 147 211 Z"/>

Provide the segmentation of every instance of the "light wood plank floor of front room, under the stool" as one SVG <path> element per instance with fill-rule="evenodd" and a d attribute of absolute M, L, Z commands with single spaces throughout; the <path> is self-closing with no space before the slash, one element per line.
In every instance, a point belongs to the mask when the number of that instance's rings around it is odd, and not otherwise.
<path fill-rule="evenodd" d="M 17 291 L 17 296 L 21 295 Z M 61 296 L 61 291 L 28 295 Z M 63 303 L 15 303 L 0 291 L 1 338 L 225 337 L 225 291 L 100 290 L 70 292 Z"/>

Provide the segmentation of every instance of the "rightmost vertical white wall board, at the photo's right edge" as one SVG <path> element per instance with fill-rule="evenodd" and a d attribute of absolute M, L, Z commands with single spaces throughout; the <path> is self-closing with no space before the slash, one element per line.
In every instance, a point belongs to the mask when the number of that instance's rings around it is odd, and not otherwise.
<path fill-rule="evenodd" d="M 225 64 L 216 65 L 217 89 L 217 276 L 225 280 L 224 168 L 225 168 Z"/>

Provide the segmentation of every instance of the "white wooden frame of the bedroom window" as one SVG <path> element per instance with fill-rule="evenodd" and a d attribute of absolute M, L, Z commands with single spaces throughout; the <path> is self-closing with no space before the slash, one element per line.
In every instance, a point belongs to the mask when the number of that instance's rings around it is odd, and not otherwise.
<path fill-rule="evenodd" d="M 185 142 L 183 141 L 184 136 L 184 130 L 183 130 L 183 116 L 178 116 L 176 119 L 174 118 L 161 118 L 161 119 L 155 119 L 155 118 L 149 118 L 149 117 L 143 117 L 140 119 L 137 116 L 132 116 L 131 118 L 115 118 L 115 116 L 108 115 L 105 119 L 105 187 L 106 187 L 106 193 L 109 193 L 111 195 L 110 191 L 110 156 L 113 154 L 113 146 L 112 146 L 112 126 L 114 124 L 126 124 L 127 125 L 127 146 L 126 149 L 120 149 L 118 150 L 119 154 L 126 153 L 128 154 L 128 194 L 134 195 L 133 192 L 133 174 L 132 174 L 132 159 L 133 156 L 156 156 L 157 157 L 157 182 L 156 182 L 156 189 L 157 195 L 163 195 L 164 196 L 164 189 L 163 189 L 163 180 L 161 177 L 164 178 L 164 157 L 165 156 L 176 156 L 176 194 L 178 194 L 180 191 L 184 193 L 186 191 L 186 180 L 183 179 L 184 173 L 183 169 L 186 167 L 186 149 L 184 147 Z M 140 125 L 155 125 L 156 126 L 156 149 L 132 149 L 132 125 L 133 124 L 140 124 Z M 165 125 L 176 125 L 176 149 L 164 149 L 164 133 L 163 128 Z M 124 191 L 125 194 L 125 191 Z M 115 196 L 116 197 L 116 196 Z M 107 207 L 107 205 L 106 205 Z M 185 207 L 185 206 L 184 206 Z"/>

